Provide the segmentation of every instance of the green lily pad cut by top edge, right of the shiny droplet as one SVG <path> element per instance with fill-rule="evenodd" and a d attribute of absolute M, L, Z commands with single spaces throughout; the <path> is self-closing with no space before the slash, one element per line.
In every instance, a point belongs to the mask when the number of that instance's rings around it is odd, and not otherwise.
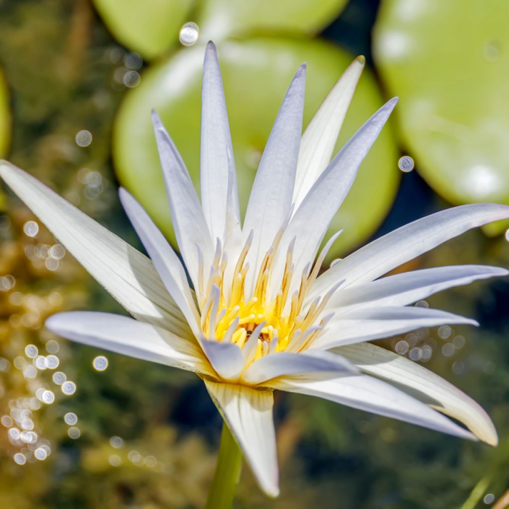
<path fill-rule="evenodd" d="M 343 11 L 347 0 L 205 0 L 197 16 L 204 39 L 219 41 L 245 33 L 316 34 Z"/>

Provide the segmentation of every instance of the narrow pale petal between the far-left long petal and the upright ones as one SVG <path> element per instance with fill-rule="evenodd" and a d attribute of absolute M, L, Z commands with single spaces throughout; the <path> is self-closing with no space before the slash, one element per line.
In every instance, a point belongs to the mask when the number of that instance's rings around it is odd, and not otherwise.
<path fill-rule="evenodd" d="M 184 267 L 143 207 L 122 187 L 119 196 L 129 220 L 147 249 L 169 294 L 180 307 L 194 335 L 199 337 L 200 316 L 187 283 Z"/>

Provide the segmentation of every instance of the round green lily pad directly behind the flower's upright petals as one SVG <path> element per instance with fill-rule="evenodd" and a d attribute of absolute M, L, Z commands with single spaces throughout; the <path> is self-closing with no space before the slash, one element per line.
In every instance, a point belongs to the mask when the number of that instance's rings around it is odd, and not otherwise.
<path fill-rule="evenodd" d="M 251 39 L 218 48 L 238 172 L 241 208 L 245 209 L 258 161 L 286 88 L 297 67 L 308 64 L 304 125 L 336 79 L 353 60 L 349 53 L 322 41 Z M 113 155 L 118 178 L 145 206 L 175 243 L 150 121 L 155 108 L 187 164 L 196 188 L 200 167 L 200 110 L 203 47 L 186 48 L 142 75 L 128 92 L 116 119 Z M 348 112 L 337 147 L 382 104 L 375 79 L 366 70 Z M 359 244 L 383 220 L 399 174 L 397 149 L 386 126 L 331 225 L 344 228 L 331 258 Z M 376 185 L 373 183 L 376 182 Z"/>

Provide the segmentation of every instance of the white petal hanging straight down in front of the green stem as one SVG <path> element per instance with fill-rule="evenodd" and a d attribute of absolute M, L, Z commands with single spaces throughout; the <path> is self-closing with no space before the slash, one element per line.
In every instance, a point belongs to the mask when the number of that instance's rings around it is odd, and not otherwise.
<path fill-rule="evenodd" d="M 278 469 L 271 390 L 204 380 L 262 490 L 276 497 Z"/>

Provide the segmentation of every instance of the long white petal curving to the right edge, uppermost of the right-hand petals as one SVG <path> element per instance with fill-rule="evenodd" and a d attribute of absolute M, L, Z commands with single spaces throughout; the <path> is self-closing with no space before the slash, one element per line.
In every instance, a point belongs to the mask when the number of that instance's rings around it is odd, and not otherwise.
<path fill-rule="evenodd" d="M 306 300 L 310 302 L 324 294 L 340 279 L 346 279 L 342 288 L 372 281 L 471 228 L 507 218 L 509 206 L 477 203 L 442 210 L 413 221 L 336 263 L 318 277 Z"/>

